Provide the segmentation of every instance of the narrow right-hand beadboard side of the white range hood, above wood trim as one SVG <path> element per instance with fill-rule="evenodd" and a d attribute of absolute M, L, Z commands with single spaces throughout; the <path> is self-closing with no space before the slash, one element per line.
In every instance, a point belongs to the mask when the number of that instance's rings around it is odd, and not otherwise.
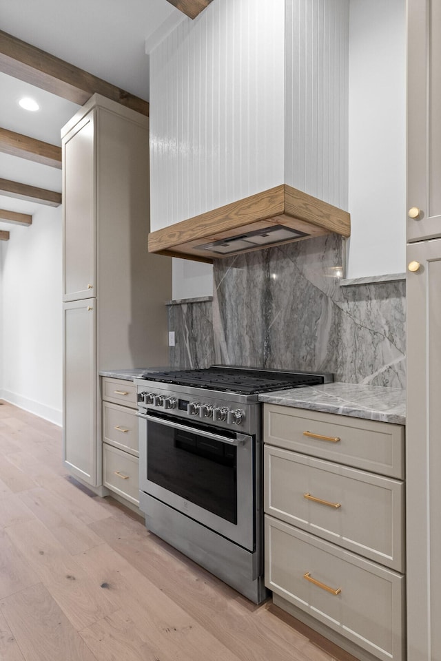
<path fill-rule="evenodd" d="M 378 14 L 380 15 L 380 14 Z M 347 209 L 349 0 L 289 0 L 285 183 Z"/>

